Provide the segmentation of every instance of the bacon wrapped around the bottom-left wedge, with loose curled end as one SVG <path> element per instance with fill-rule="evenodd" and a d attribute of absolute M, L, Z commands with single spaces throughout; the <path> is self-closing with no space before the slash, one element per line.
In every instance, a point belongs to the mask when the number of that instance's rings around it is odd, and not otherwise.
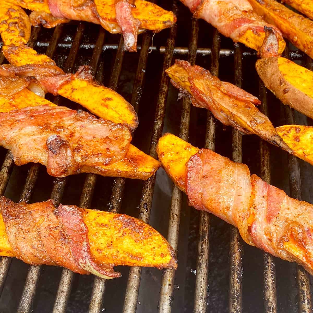
<path fill-rule="evenodd" d="M 59 265 L 105 279 L 121 276 L 112 264 L 94 260 L 81 208 L 62 204 L 55 208 L 52 200 L 14 203 L 5 197 L 0 197 L 0 208 L 11 248 L 25 263 Z"/>

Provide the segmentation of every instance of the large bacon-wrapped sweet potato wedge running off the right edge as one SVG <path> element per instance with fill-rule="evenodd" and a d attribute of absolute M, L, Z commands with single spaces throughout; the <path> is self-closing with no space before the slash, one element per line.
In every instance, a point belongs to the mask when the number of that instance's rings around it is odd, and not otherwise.
<path fill-rule="evenodd" d="M 313 205 L 250 177 L 249 169 L 209 149 L 165 134 L 159 160 L 189 203 L 239 228 L 247 244 L 297 262 L 313 274 Z M 177 181 L 177 178 L 180 180 Z"/>

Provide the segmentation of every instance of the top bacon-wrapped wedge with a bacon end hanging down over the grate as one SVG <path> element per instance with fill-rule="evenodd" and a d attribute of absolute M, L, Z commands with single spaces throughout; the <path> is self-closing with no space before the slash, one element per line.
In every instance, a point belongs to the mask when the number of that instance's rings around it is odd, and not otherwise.
<path fill-rule="evenodd" d="M 54 27 L 69 20 L 100 24 L 110 33 L 123 33 L 125 47 L 137 49 L 137 35 L 145 29 L 159 32 L 172 27 L 176 17 L 154 3 L 144 0 L 3 0 L 35 11 L 30 14 L 34 26 Z M 0 5 L 1 12 L 1 5 Z"/>

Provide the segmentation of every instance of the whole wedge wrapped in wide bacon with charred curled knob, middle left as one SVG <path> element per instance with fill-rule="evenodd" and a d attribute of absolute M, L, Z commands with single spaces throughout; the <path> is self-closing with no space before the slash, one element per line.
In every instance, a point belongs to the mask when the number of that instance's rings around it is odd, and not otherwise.
<path fill-rule="evenodd" d="M 19 80 L 21 80 L 20 84 L 23 84 L 23 79 L 19 78 Z M 6 81 L 5 83 L 12 85 L 12 82 Z M 1 85 L 3 84 L 4 83 L 2 82 Z M 104 129 L 102 129 L 102 126 L 100 125 L 100 128 L 98 126 L 97 137 L 99 137 L 98 139 L 100 139 L 100 137 L 102 136 L 104 142 L 98 142 L 100 143 L 100 146 L 97 148 L 97 151 L 94 151 L 96 155 L 95 157 L 93 157 L 92 150 L 94 150 L 96 142 L 90 143 L 88 131 L 86 133 L 85 130 L 89 128 L 89 131 L 92 131 L 94 133 L 93 137 L 95 137 L 97 131 L 97 127 L 95 124 L 97 124 L 97 121 L 100 120 L 94 120 L 94 117 L 92 117 L 92 115 L 88 113 L 81 112 L 80 114 L 78 114 L 75 113 L 76 111 L 58 107 L 50 101 L 36 95 L 26 88 L 17 92 L 17 88 L 18 82 L 15 83 L 14 90 L 11 89 L 6 91 L 7 97 L 0 96 L 0 119 L 2 119 L 3 123 L 3 127 L 1 128 L 3 130 L 2 145 L 12 149 L 13 155 L 15 156 L 16 164 L 21 165 L 27 162 L 40 162 L 47 166 L 49 174 L 53 176 L 64 176 L 78 172 L 91 172 L 102 176 L 126 177 L 142 180 L 146 180 L 151 177 L 151 175 L 153 175 L 159 168 L 160 164 L 158 161 L 128 143 L 124 147 L 125 150 L 124 148 L 122 148 L 123 151 L 120 150 L 121 154 L 120 152 L 118 152 L 118 150 L 114 150 L 114 162 L 111 162 L 106 157 L 103 159 L 102 156 L 104 155 L 101 154 L 101 151 L 105 149 L 105 145 L 109 145 L 109 149 L 112 149 L 113 146 L 116 144 L 117 137 L 115 135 L 112 138 L 110 138 L 110 136 L 107 136 L 104 139 Z M 12 92 L 12 94 L 10 94 L 10 92 Z M 3 92 L 1 92 L 1 94 L 3 95 Z M 36 115 L 39 114 L 40 111 L 44 114 L 43 120 L 38 120 L 36 124 L 36 117 L 34 117 L 34 120 L 30 120 L 35 123 L 33 125 L 34 128 L 28 127 L 30 126 L 30 124 L 28 123 L 27 115 Z M 54 119 L 58 115 L 62 115 L 62 117 L 59 116 L 61 120 L 54 121 Z M 75 117 L 74 115 L 77 115 L 81 125 L 84 126 L 80 130 L 76 129 L 78 131 L 78 137 L 74 139 L 75 142 L 71 137 L 71 134 L 74 134 L 74 126 L 78 126 L 77 117 Z M 15 118 L 18 119 L 18 122 L 16 121 L 16 127 L 14 126 Z M 38 115 L 38 118 L 40 119 L 40 114 Z M 76 124 L 73 124 L 74 121 Z M 21 126 L 21 123 L 23 123 L 25 127 L 20 127 L 19 131 L 18 128 L 19 126 Z M 59 126 L 57 126 L 58 123 L 60 124 Z M 6 126 L 4 126 L 4 124 L 6 124 Z M 61 124 L 63 125 L 61 126 Z M 93 124 L 94 126 L 92 126 Z M 125 126 L 122 126 L 121 124 L 110 124 L 110 122 L 108 121 L 106 121 L 105 124 L 105 128 L 109 126 L 108 130 L 111 126 L 113 126 L 113 129 L 115 129 L 113 133 L 118 131 L 118 127 L 120 127 L 120 129 L 123 131 L 123 140 L 125 140 L 126 137 L 131 138 L 129 131 Z M 46 126 L 43 128 L 43 125 Z M 15 129 L 14 131 L 12 127 Z M 59 127 L 63 130 L 65 130 L 67 127 L 69 128 L 70 133 L 66 133 L 65 135 L 70 136 L 69 140 L 67 140 L 67 138 L 65 138 L 57 131 Z M 35 134 L 35 129 L 37 129 L 37 135 Z M 56 132 L 53 131 L 53 129 L 56 129 Z M 6 133 L 7 131 L 8 133 Z M 11 133 L 12 131 L 13 133 Z M 52 133 L 49 135 L 48 133 L 50 133 L 51 131 Z M 21 132 L 26 132 L 24 137 Z M 56 138 L 54 138 L 53 141 L 49 141 L 49 145 L 47 145 L 47 140 L 48 138 L 53 137 L 53 133 L 57 136 Z M 113 133 L 111 133 L 111 135 L 113 135 Z M 39 134 L 41 136 L 38 136 Z M 63 139 L 58 141 L 57 139 L 60 135 Z M 109 135 L 109 133 L 107 133 L 107 135 Z M 32 139 L 33 136 L 36 137 L 36 140 Z M 11 140 L 14 138 L 14 140 L 10 141 L 9 138 L 11 138 Z M 93 138 L 92 140 L 94 139 L 95 138 Z M 64 145 L 62 144 L 62 142 L 64 143 Z M 55 143 L 56 146 L 52 143 Z M 80 154 L 79 151 L 81 151 L 81 149 L 87 143 L 88 145 L 94 146 L 94 148 L 91 149 L 90 146 L 87 150 L 85 150 L 87 154 L 85 154 L 83 158 L 84 160 L 80 157 L 79 159 L 77 159 Z M 118 154 L 116 155 L 117 152 Z M 69 154 L 67 157 L 65 157 L 67 153 Z M 50 162 L 49 155 L 52 156 Z M 61 157 L 62 155 L 63 157 L 65 157 L 65 159 Z M 89 164 L 87 164 L 88 159 L 90 161 Z M 77 167 L 77 165 L 79 166 Z"/>

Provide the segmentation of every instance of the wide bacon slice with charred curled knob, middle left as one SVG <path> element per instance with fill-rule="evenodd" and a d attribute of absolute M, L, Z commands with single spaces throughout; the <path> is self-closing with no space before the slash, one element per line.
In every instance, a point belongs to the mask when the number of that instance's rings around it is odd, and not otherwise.
<path fill-rule="evenodd" d="M 39 162 L 64 177 L 124 158 L 131 141 L 126 126 L 82 110 L 40 105 L 0 113 L 0 144 L 15 164 Z"/>

